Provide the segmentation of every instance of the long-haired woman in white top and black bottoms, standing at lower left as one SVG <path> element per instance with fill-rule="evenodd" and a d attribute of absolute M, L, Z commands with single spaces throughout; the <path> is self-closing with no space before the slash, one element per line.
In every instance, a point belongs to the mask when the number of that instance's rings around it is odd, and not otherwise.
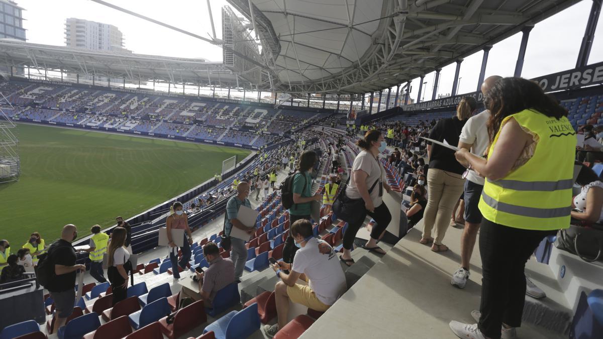
<path fill-rule="evenodd" d="M 111 233 L 111 242 L 109 242 L 107 251 L 107 255 L 109 255 L 107 276 L 113 291 L 113 306 L 127 297 L 128 270 L 131 267 L 127 267 L 130 265 L 128 262 L 130 253 L 124 247 L 126 235 L 124 227 L 115 227 Z"/>

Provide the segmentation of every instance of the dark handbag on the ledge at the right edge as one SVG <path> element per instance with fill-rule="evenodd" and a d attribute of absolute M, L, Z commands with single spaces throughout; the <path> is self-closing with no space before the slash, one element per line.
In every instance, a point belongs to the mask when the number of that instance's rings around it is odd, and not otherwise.
<path fill-rule="evenodd" d="M 586 262 L 603 261 L 603 226 L 570 225 L 568 229 L 557 232 L 555 247 L 573 253 Z"/>

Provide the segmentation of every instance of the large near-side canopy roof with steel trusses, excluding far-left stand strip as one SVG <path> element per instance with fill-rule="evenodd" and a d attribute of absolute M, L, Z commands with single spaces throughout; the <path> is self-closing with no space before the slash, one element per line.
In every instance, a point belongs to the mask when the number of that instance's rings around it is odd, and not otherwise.
<path fill-rule="evenodd" d="M 453 63 L 579 0 L 228 1 L 248 19 L 253 3 L 285 91 L 367 93 Z"/>

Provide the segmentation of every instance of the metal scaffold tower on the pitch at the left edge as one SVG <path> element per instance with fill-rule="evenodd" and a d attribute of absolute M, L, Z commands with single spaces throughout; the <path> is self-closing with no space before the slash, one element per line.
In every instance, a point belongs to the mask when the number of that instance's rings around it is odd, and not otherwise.
<path fill-rule="evenodd" d="M 0 183 L 19 180 L 21 175 L 21 158 L 19 156 L 19 139 L 13 133 L 17 125 L 10 119 L 4 110 L 17 112 L 13 105 L 3 93 L 2 100 L 7 104 L 0 103 Z"/>

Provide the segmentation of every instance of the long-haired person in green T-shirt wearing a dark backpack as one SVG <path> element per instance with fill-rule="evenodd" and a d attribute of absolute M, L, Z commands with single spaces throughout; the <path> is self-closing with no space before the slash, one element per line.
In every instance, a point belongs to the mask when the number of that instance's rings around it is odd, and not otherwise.
<path fill-rule="evenodd" d="M 289 209 L 289 224 L 292 225 L 300 219 L 310 220 L 310 211 L 312 201 L 320 201 L 320 194 L 312 194 L 312 168 L 317 162 L 317 156 L 314 151 L 304 151 L 301 153 L 298 161 L 298 168 L 293 177 L 291 191 L 293 192 L 293 205 Z M 291 233 L 285 239 L 283 247 L 283 261 L 287 263 L 293 262 L 293 256 L 297 251 L 294 246 Z"/>

